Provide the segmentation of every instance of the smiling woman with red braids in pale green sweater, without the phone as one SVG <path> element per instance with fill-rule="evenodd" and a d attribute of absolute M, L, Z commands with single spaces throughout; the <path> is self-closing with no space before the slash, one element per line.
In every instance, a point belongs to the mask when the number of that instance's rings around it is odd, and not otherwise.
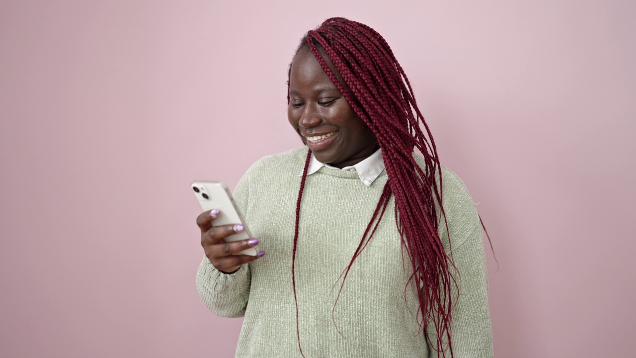
<path fill-rule="evenodd" d="M 309 31 L 288 103 L 306 146 L 235 190 L 258 239 L 225 243 L 243 227 L 197 218 L 197 287 L 245 316 L 237 357 L 492 357 L 480 220 L 384 38 L 344 18 Z"/>

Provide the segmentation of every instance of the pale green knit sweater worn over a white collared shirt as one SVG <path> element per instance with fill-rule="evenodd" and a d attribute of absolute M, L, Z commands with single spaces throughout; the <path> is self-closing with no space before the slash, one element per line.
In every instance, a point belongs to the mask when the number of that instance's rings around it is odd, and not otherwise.
<path fill-rule="evenodd" d="M 198 269 L 197 288 L 208 308 L 222 317 L 245 317 L 237 357 L 300 357 L 291 254 L 306 157 L 307 147 L 265 157 L 237 185 L 235 200 L 265 256 L 232 275 L 219 272 L 205 257 Z M 446 168 L 442 177 L 453 261 L 460 273 L 455 274 L 460 296 L 452 311 L 453 351 L 455 358 L 492 357 L 480 221 L 461 180 Z M 296 252 L 300 341 L 307 358 L 436 357 L 424 334 L 418 334 L 416 287 L 405 289 L 412 268 L 406 257 L 403 261 L 393 200 L 354 261 L 334 309 L 338 278 L 386 182 L 386 171 L 367 187 L 355 171 L 326 167 L 307 177 Z M 443 224 L 439 235 L 448 248 Z M 435 333 L 434 327 L 427 331 Z"/>

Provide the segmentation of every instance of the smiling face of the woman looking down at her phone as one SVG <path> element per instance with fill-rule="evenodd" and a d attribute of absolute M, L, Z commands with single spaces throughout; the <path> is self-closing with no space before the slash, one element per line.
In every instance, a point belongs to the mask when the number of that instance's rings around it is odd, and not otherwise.
<path fill-rule="evenodd" d="M 325 61 L 335 71 L 333 63 Z M 308 48 L 301 48 L 291 63 L 287 117 L 319 162 L 352 166 L 378 148 L 373 132 Z"/>

